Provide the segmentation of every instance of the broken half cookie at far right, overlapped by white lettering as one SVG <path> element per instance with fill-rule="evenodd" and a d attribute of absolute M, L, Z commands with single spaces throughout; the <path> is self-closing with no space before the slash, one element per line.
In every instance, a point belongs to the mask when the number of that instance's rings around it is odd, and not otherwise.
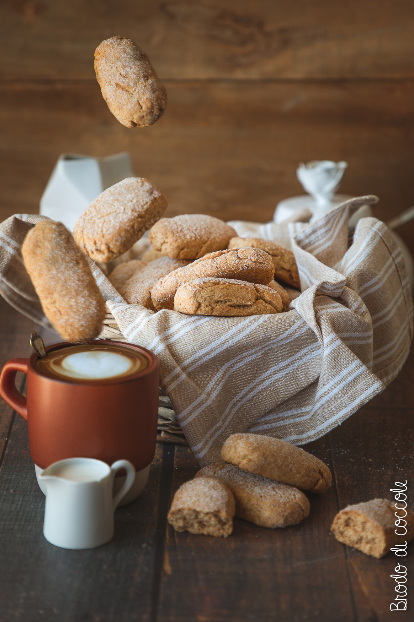
<path fill-rule="evenodd" d="M 397 503 L 401 508 L 403 505 Z M 397 529 L 395 513 L 407 522 L 404 529 Z M 400 524 L 404 524 L 401 522 Z M 344 508 L 336 514 L 331 524 L 331 531 L 339 542 L 353 549 L 361 550 L 371 557 L 384 557 L 394 544 L 404 544 L 414 538 L 414 513 L 410 509 L 399 511 L 395 508 L 395 501 L 388 499 L 371 499 L 363 503 Z M 398 536 L 395 531 L 398 531 Z"/>

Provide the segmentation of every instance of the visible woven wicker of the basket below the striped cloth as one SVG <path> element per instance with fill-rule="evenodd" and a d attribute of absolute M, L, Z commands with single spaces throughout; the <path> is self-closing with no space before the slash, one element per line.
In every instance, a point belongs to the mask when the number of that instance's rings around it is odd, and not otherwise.
<path fill-rule="evenodd" d="M 127 342 L 124 335 L 120 332 L 117 322 L 112 313 L 110 313 L 108 307 L 106 307 L 106 318 L 98 339 Z M 173 404 L 171 404 L 169 397 L 166 396 L 161 389 L 158 398 L 158 434 L 156 439 L 164 443 L 181 443 L 182 445 L 188 445 L 187 439 L 184 436 L 184 432 L 181 430 L 174 412 Z"/>

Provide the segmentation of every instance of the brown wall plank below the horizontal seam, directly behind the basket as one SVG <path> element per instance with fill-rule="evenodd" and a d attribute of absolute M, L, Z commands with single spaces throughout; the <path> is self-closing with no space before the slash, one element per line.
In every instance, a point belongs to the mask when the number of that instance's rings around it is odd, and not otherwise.
<path fill-rule="evenodd" d="M 413 202 L 414 83 L 169 82 L 155 126 L 130 130 L 96 83 L 0 84 L 0 218 L 36 213 L 61 152 L 130 151 L 135 174 L 158 185 L 167 215 L 271 220 L 302 193 L 300 161 L 345 159 L 341 191 L 376 193 L 387 220 Z M 390 156 L 392 154 L 392 157 Z M 413 246 L 414 225 L 399 232 Z"/>

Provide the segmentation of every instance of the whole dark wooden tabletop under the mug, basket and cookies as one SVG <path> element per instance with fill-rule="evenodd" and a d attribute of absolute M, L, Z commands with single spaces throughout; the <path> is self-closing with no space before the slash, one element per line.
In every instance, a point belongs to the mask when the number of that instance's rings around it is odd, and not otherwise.
<path fill-rule="evenodd" d="M 0 327 L 1 364 L 30 354 L 36 326 L 2 299 Z M 59 549 L 43 537 L 45 498 L 27 423 L 1 401 L 0 621 L 413 620 L 413 547 L 403 560 L 393 553 L 376 560 L 330 533 L 338 509 L 392 498 L 395 481 L 408 480 L 414 506 L 413 372 L 411 355 L 384 393 L 305 446 L 330 466 L 334 485 L 308 494 L 301 524 L 270 530 L 235 519 L 227 539 L 176 533 L 166 522 L 171 498 L 199 467 L 188 447 L 158 443 L 144 493 L 117 509 L 114 539 L 92 550 Z M 24 376 L 17 384 L 23 388 Z M 408 568 L 410 610 L 392 613 L 398 561 Z"/>

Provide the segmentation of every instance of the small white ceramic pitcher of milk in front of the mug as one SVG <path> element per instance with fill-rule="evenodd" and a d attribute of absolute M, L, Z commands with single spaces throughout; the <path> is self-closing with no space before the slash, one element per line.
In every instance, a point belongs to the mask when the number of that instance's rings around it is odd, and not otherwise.
<path fill-rule="evenodd" d="M 127 478 L 112 496 L 115 473 Z M 43 535 L 63 549 L 94 549 L 114 536 L 114 512 L 135 480 L 128 460 L 111 466 L 93 458 L 68 458 L 48 466 L 40 475 L 46 491 Z"/>

